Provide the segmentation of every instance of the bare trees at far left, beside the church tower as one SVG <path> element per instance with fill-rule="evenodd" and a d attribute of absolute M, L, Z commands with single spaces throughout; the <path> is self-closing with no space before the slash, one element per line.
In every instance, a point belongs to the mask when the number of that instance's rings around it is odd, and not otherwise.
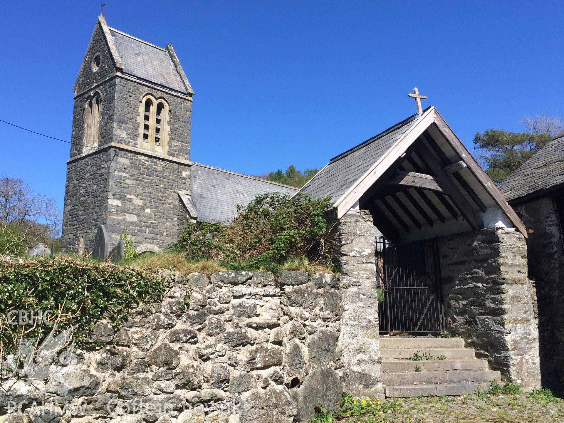
<path fill-rule="evenodd" d="M 0 178 L 0 231 L 7 243 L 14 237 L 26 248 L 47 243 L 59 236 L 60 226 L 55 200 L 39 195 L 22 179 Z"/>

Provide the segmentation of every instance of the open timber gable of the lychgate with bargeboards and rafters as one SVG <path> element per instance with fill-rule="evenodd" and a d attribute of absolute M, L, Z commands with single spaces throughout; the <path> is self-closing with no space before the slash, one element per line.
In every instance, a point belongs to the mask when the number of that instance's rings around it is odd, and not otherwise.
<path fill-rule="evenodd" d="M 380 217 L 385 215 L 404 231 L 422 223 L 445 223 L 448 214 L 453 219 L 462 215 L 478 230 L 483 227 L 479 213 L 487 211 L 492 200 L 526 237 L 513 209 L 431 106 L 335 199 L 333 207 L 340 218 L 355 202 L 373 204 Z"/>

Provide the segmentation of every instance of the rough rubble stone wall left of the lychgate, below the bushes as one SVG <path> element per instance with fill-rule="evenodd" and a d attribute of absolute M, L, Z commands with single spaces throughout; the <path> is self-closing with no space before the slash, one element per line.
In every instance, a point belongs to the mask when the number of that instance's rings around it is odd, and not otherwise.
<path fill-rule="evenodd" d="M 343 392 L 337 276 L 163 276 L 168 290 L 153 310 L 134 310 L 116 331 L 95 325 L 90 341 L 99 349 L 75 351 L 48 383 L 5 384 L 0 414 L 19 413 L 0 421 L 290 423 L 336 406 Z"/>

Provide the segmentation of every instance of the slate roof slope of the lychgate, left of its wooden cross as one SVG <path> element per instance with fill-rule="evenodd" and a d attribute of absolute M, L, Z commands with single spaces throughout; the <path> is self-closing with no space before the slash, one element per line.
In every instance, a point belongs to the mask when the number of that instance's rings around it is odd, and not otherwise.
<path fill-rule="evenodd" d="M 415 123 L 416 114 L 362 144 L 333 157 L 313 179 L 300 190 L 314 198 L 340 197 Z"/>

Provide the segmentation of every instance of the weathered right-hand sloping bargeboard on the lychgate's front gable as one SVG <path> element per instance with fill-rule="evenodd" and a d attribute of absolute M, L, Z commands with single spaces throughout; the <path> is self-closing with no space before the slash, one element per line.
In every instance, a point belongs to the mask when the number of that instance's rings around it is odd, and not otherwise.
<path fill-rule="evenodd" d="M 444 136 L 447 142 L 450 144 L 452 149 L 456 152 L 459 157 L 466 162 L 468 168 L 474 175 L 478 182 L 482 184 L 484 189 L 490 193 L 492 196 L 493 201 L 499 206 L 501 210 L 507 215 L 507 217 L 513 222 L 515 228 L 519 232 L 523 234 L 524 237 L 527 237 L 527 230 L 521 219 L 517 216 L 517 213 L 507 204 L 501 192 L 497 189 L 497 187 L 493 184 L 492 180 L 486 175 L 483 169 L 478 165 L 475 161 L 474 157 L 468 152 L 464 144 L 460 141 L 460 139 L 452 132 L 452 129 L 447 125 L 447 122 L 444 121 L 443 117 L 440 114 L 433 110 L 434 113 L 434 124 L 439 129 L 440 133 Z"/>

